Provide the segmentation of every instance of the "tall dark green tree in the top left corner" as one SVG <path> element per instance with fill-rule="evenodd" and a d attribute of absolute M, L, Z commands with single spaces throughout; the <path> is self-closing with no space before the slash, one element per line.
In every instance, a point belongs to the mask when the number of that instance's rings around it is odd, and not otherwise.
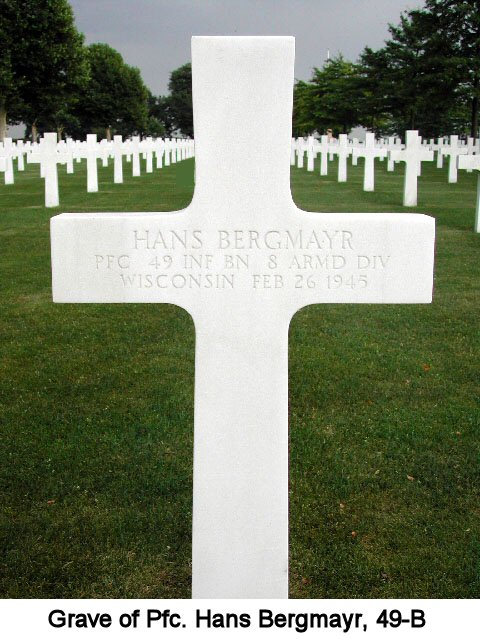
<path fill-rule="evenodd" d="M 7 118 L 32 125 L 34 136 L 39 121 L 60 126 L 88 77 L 70 5 L 0 0 L 0 16 L 0 137 Z"/>

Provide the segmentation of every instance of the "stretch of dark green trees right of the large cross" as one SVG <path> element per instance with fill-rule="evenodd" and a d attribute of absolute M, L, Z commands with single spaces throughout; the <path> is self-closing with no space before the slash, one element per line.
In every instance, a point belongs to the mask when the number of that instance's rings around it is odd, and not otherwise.
<path fill-rule="evenodd" d="M 478 137 L 479 99 L 479 0 L 425 0 L 389 26 L 382 48 L 365 47 L 356 62 L 338 55 L 296 83 L 294 135 L 363 125 Z"/>

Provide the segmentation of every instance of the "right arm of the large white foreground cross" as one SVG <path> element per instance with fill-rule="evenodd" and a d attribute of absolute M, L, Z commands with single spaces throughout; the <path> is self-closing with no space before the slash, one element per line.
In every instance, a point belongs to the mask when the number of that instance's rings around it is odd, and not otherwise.
<path fill-rule="evenodd" d="M 434 218 L 303 211 L 299 218 L 303 248 L 297 243 L 284 263 L 294 312 L 315 303 L 432 301 Z"/>

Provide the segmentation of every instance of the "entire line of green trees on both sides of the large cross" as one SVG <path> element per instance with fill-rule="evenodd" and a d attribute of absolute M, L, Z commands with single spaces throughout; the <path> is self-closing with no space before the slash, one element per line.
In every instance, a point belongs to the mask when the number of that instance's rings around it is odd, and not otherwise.
<path fill-rule="evenodd" d="M 6 124 L 83 137 L 97 132 L 193 137 L 192 71 L 154 96 L 140 71 L 107 44 L 85 46 L 67 0 L 0 0 L 0 140 Z M 382 48 L 342 55 L 294 88 L 293 134 L 361 125 L 377 135 L 418 129 L 478 136 L 479 0 L 425 0 L 389 26 Z"/>

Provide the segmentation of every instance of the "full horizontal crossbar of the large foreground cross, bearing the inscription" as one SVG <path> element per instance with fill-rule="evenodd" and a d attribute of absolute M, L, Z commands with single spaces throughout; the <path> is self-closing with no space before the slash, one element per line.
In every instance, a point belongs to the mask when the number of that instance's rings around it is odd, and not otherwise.
<path fill-rule="evenodd" d="M 292 315 L 314 303 L 431 301 L 433 218 L 287 205 L 261 221 L 258 212 L 250 223 L 200 225 L 189 209 L 55 216 L 53 299 L 168 302 L 192 312 L 253 297 Z"/>

